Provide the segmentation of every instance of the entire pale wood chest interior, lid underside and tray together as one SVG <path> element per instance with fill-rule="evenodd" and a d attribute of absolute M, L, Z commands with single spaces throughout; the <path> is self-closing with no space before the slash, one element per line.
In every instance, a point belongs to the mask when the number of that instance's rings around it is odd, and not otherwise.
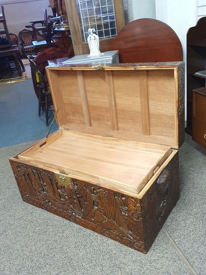
<path fill-rule="evenodd" d="M 47 67 L 60 130 L 18 155 L 138 194 L 178 148 L 176 66 Z"/>

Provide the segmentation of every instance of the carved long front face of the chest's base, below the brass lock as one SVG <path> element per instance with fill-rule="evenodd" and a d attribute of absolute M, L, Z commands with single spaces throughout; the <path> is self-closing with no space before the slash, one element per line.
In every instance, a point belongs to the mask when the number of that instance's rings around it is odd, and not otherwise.
<path fill-rule="evenodd" d="M 22 199 L 145 253 L 140 200 L 10 160 Z"/>

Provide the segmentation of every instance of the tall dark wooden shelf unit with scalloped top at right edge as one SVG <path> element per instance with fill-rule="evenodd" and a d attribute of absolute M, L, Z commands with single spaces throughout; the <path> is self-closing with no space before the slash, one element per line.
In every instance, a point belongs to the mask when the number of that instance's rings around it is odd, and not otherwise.
<path fill-rule="evenodd" d="M 192 94 L 194 89 L 205 87 L 205 78 L 195 75 L 206 68 L 206 17 L 198 20 L 187 32 L 187 125 L 186 133 L 192 135 Z M 206 108 L 206 106 L 205 106 Z"/>

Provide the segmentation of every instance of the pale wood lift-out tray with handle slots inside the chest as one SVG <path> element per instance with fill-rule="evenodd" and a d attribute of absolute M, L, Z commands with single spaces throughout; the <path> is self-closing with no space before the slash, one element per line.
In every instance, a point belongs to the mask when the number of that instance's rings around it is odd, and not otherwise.
<path fill-rule="evenodd" d="M 139 192 L 171 154 L 169 146 L 157 145 L 156 149 L 154 145 L 141 142 L 130 144 L 124 140 L 91 136 L 63 131 L 18 157 L 20 160 L 30 158 L 33 164 L 42 163 L 43 167 L 57 170 L 65 167 L 65 171 L 82 173 L 83 178 L 84 174 L 89 174 L 91 180 L 101 178 L 111 187 L 116 182 Z"/>

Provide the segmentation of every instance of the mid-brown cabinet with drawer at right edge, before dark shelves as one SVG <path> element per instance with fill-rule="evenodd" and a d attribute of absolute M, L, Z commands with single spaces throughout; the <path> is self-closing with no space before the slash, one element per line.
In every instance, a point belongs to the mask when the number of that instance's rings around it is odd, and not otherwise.
<path fill-rule="evenodd" d="M 206 87 L 193 90 L 192 139 L 206 148 Z"/>

